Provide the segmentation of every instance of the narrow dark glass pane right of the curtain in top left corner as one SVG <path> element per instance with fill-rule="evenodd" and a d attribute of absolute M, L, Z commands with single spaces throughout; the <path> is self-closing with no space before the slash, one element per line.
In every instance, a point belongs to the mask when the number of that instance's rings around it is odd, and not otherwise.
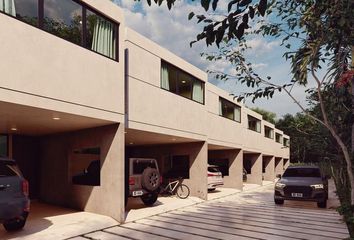
<path fill-rule="evenodd" d="M 15 0 L 15 12 L 22 21 L 38 25 L 38 0 Z"/>

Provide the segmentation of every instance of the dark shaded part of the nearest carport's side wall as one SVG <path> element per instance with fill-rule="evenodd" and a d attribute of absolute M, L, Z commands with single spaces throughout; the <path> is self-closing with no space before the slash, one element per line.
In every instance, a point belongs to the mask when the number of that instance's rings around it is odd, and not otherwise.
<path fill-rule="evenodd" d="M 102 184 L 117 129 L 111 125 L 42 137 L 40 199 L 85 210 L 93 190 Z"/>

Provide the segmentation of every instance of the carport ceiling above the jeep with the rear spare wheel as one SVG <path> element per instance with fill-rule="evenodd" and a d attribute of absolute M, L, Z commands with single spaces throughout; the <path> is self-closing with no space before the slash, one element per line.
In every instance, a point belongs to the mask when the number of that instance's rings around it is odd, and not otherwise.
<path fill-rule="evenodd" d="M 176 143 L 189 143 L 189 142 L 199 142 L 199 141 L 200 140 L 135 130 L 135 129 L 125 130 L 125 144 L 127 146 L 176 144 Z"/>

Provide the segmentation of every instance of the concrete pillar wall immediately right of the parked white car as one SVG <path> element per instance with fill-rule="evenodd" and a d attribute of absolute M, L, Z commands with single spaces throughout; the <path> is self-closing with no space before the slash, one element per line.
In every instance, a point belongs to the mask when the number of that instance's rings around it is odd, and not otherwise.
<path fill-rule="evenodd" d="M 224 176 L 224 187 L 242 190 L 243 151 L 241 149 L 209 151 L 208 158 L 228 159 L 229 176 Z"/>

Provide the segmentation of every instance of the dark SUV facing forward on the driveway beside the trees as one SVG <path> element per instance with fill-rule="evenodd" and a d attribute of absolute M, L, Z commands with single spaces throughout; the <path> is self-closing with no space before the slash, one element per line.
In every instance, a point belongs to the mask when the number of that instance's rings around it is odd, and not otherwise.
<path fill-rule="evenodd" d="M 315 166 L 288 167 L 275 184 L 274 202 L 284 200 L 315 201 L 320 208 L 326 208 L 328 199 L 328 177 Z"/>

